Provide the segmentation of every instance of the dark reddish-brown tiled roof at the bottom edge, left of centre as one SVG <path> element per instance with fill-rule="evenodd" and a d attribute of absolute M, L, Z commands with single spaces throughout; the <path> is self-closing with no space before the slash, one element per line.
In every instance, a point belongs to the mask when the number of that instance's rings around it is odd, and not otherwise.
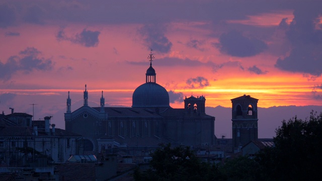
<path fill-rule="evenodd" d="M 55 166 L 59 180 L 95 181 L 95 163 L 63 163 Z"/>

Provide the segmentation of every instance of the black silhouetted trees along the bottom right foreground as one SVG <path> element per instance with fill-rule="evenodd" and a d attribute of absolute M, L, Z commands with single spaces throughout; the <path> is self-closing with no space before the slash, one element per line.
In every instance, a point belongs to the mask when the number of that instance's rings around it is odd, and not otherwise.
<path fill-rule="evenodd" d="M 134 173 L 135 180 L 320 180 L 322 177 L 322 113 L 308 120 L 294 117 L 276 129 L 274 147 L 254 159 L 240 156 L 224 164 L 200 162 L 189 147 L 161 145 L 151 168 Z"/>

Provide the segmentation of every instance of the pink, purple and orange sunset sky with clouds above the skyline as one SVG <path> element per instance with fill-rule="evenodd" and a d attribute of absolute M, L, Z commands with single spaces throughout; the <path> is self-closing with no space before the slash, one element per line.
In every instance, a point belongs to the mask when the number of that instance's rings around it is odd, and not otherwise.
<path fill-rule="evenodd" d="M 104 91 L 132 105 L 150 49 L 171 106 L 322 106 L 322 1 L 0 1 L 0 111 L 35 120 Z M 72 111 L 78 107 L 72 106 Z M 215 116 L 215 115 L 214 115 Z M 61 122 L 63 120 L 56 120 Z M 62 127 L 62 126 L 60 126 Z"/>

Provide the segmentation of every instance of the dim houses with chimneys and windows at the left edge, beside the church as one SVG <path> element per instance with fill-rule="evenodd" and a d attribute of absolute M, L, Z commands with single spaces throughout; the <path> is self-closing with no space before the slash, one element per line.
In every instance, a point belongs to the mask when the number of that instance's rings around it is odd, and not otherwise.
<path fill-rule="evenodd" d="M 18 117 L 14 118 L 13 115 Z M 32 117 L 25 113 L 2 115 L 0 125 L 2 164 L 47 166 L 48 163 L 65 162 L 70 155 L 78 153 L 81 135 L 55 128 L 54 124 L 50 125 L 50 117 L 32 121 L 32 126 L 21 126 L 13 122 L 23 115 L 30 119 Z"/>

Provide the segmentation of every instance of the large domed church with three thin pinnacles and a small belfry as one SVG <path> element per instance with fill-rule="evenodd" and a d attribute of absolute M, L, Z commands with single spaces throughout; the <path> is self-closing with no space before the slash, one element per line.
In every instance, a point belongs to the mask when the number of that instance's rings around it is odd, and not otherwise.
<path fill-rule="evenodd" d="M 215 118 L 205 113 L 206 98 L 186 97 L 184 108 L 170 107 L 167 90 L 156 83 L 152 52 L 148 58 L 150 66 L 145 73 L 145 83 L 133 92 L 131 108 L 105 107 L 103 91 L 100 107 L 89 107 L 85 85 L 84 106 L 72 112 L 68 92 L 65 129 L 87 139 L 85 152 L 119 149 L 133 154 L 155 148 L 159 143 L 174 146 L 216 143 Z"/>

